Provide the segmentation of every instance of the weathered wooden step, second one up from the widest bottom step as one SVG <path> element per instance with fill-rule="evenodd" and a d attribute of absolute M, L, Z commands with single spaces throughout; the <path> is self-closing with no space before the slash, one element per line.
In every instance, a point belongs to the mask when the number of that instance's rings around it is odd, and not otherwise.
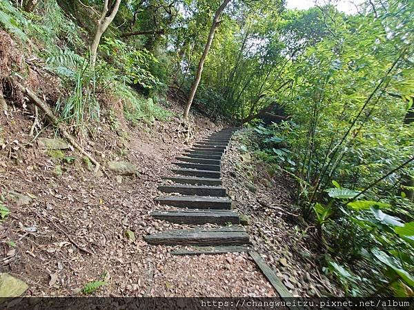
<path fill-rule="evenodd" d="M 161 205 L 188 209 L 219 209 L 230 210 L 231 200 L 227 197 L 210 196 L 164 196 L 154 199 Z"/>

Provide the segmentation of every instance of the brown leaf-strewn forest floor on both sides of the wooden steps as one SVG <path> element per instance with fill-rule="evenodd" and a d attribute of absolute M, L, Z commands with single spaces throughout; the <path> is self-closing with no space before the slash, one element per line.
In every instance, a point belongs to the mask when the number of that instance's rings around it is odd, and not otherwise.
<path fill-rule="evenodd" d="M 179 105 L 172 110 L 181 114 Z M 193 141 L 221 127 L 201 116 L 196 123 Z M 109 171 L 97 177 L 77 152 L 66 149 L 56 156 L 32 141 L 32 121 L 23 110 L 0 116 L 1 195 L 23 195 L 19 202 L 6 200 L 10 214 L 0 224 L 0 271 L 27 282 L 27 296 L 75 296 L 97 280 L 106 284 L 96 296 L 277 296 L 247 254 L 172 256 L 174 247 L 144 242 L 146 234 L 184 227 L 150 216 L 161 176 L 171 175 L 174 157 L 189 147 L 179 124 L 173 116 L 119 136 L 103 123 L 101 134 L 84 146 L 103 162 L 124 160 L 139 168 L 137 176 L 119 178 Z M 248 230 L 259 252 L 296 296 L 339 294 L 319 273 L 305 238 L 284 220 L 286 214 L 258 203 L 285 208 L 292 184 L 273 179 L 272 187 L 255 183 L 257 192 L 250 192 L 245 177 L 234 172 L 239 145 L 236 138 L 226 156 L 224 185 L 236 208 L 250 217 Z M 126 229 L 135 240 L 126 238 Z"/>

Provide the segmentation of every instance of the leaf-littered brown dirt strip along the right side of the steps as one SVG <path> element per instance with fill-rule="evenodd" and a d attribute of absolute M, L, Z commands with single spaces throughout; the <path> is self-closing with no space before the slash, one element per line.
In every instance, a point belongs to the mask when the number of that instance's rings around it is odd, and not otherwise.
<path fill-rule="evenodd" d="M 246 152 L 252 141 L 251 130 L 235 134 L 223 162 L 223 184 L 235 209 L 250 220 L 250 240 L 294 296 L 343 296 L 335 280 L 319 271 L 310 231 L 298 225 L 295 181 L 281 171 L 269 174 L 268 165 Z"/>

